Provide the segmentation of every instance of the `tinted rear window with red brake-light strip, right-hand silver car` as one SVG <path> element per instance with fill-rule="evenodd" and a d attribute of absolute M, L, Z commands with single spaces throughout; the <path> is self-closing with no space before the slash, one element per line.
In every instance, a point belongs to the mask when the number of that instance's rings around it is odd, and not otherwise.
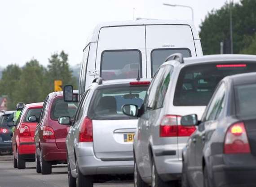
<path fill-rule="evenodd" d="M 256 72 L 256 63 L 211 63 L 186 66 L 178 77 L 173 105 L 206 106 L 221 79 L 245 72 Z"/>

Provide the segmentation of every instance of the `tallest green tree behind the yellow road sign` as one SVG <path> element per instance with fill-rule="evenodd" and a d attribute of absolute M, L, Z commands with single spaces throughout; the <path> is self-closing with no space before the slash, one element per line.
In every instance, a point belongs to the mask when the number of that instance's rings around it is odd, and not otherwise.
<path fill-rule="evenodd" d="M 55 53 L 49 59 L 48 65 L 48 82 L 49 91 L 54 90 L 54 80 L 62 80 L 62 85 L 74 85 L 76 87 L 76 79 L 72 76 L 72 71 L 68 64 L 68 54 L 61 51 L 60 54 Z"/>

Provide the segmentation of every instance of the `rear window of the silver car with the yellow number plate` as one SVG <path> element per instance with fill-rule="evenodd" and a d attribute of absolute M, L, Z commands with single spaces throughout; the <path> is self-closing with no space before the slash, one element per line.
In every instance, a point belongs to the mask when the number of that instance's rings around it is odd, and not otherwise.
<path fill-rule="evenodd" d="M 97 120 L 130 119 L 124 115 L 122 106 L 134 104 L 140 108 L 147 89 L 148 86 L 138 85 L 98 89 L 90 104 L 88 117 Z"/>

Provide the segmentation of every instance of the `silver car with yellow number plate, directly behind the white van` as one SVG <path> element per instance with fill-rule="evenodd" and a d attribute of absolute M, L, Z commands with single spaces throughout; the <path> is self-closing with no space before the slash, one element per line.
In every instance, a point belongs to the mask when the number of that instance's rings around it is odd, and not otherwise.
<path fill-rule="evenodd" d="M 133 174 L 137 118 L 124 115 L 122 106 L 141 106 L 149 84 L 149 80 L 95 79 L 79 102 L 75 121 L 59 118 L 59 123 L 71 124 L 66 138 L 70 187 L 76 186 L 76 180 L 78 187 L 92 187 L 106 179 L 104 175 Z"/>

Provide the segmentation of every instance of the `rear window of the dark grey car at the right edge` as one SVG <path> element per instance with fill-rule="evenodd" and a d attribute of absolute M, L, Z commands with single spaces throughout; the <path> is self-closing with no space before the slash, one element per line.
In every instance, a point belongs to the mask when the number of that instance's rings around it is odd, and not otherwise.
<path fill-rule="evenodd" d="M 256 115 L 256 84 L 236 86 L 235 93 L 236 114 Z"/>

